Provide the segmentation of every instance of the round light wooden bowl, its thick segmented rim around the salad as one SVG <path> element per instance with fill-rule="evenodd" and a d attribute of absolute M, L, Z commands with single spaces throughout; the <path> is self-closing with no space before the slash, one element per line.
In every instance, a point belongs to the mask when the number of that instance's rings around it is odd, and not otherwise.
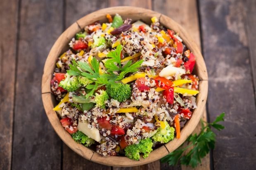
<path fill-rule="evenodd" d="M 151 18 L 156 16 L 159 19 L 159 22 L 169 28 L 174 30 L 179 34 L 183 39 L 183 42 L 196 56 L 196 65 L 195 65 L 195 74 L 199 77 L 199 94 L 197 95 L 197 108 L 194 110 L 192 118 L 186 123 L 185 127 L 181 130 L 180 139 L 174 139 L 171 142 L 166 143 L 165 145 L 159 147 L 158 149 L 153 150 L 149 157 L 146 159 L 141 158 L 140 161 L 133 161 L 128 159 L 125 156 L 107 156 L 102 157 L 97 152 L 92 151 L 91 149 L 84 147 L 81 144 L 77 144 L 69 135 L 67 131 L 62 127 L 62 124 L 59 122 L 59 118 L 55 111 L 52 109 L 56 106 L 56 100 L 53 94 L 51 94 L 50 89 L 50 80 L 52 79 L 52 73 L 55 68 L 55 62 L 57 57 L 64 53 L 68 49 L 69 41 L 77 32 L 80 32 L 86 25 L 94 23 L 95 21 L 107 22 L 106 14 L 115 15 L 116 13 L 120 14 L 123 18 L 132 18 L 133 21 L 142 20 L 145 23 L 150 23 Z M 208 92 L 208 76 L 206 71 L 206 66 L 204 63 L 203 56 L 200 53 L 199 48 L 197 47 L 195 41 L 190 37 L 190 35 L 175 21 L 171 18 L 159 14 L 155 11 L 149 9 L 143 9 L 138 7 L 111 7 L 100 9 L 98 11 L 92 12 L 79 19 L 73 23 L 68 29 L 66 29 L 60 37 L 57 39 L 55 44 L 52 46 L 52 49 L 47 57 L 44 67 L 44 73 L 42 78 L 42 98 L 45 112 L 47 114 L 50 123 L 55 129 L 59 137 L 68 145 L 74 152 L 83 156 L 85 159 L 94 161 L 96 163 L 101 163 L 104 165 L 111 166 L 137 166 L 150 163 L 161 159 L 166 156 L 169 152 L 173 152 L 178 148 L 197 126 L 201 115 L 204 110 Z"/>

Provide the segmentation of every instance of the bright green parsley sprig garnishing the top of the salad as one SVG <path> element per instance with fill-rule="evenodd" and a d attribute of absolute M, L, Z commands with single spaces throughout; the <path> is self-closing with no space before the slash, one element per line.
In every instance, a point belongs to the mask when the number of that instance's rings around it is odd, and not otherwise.
<path fill-rule="evenodd" d="M 122 80 L 126 74 L 138 71 L 137 68 L 141 66 L 143 60 L 135 62 L 134 64 L 132 64 L 132 61 L 130 60 L 122 65 L 120 57 L 121 51 L 122 46 L 119 44 L 116 47 L 116 50 L 107 54 L 109 59 L 107 59 L 104 64 L 107 68 L 107 73 L 100 74 L 100 62 L 95 57 L 92 57 L 90 62 L 91 66 L 87 62 L 76 62 L 76 60 L 72 60 L 72 64 L 69 64 L 70 69 L 67 70 L 67 73 L 70 76 L 83 76 L 92 80 L 93 83 L 85 87 L 89 90 L 86 97 L 92 96 L 98 87 L 112 83 L 116 80 Z M 115 74 L 114 71 L 119 73 L 119 75 Z"/>

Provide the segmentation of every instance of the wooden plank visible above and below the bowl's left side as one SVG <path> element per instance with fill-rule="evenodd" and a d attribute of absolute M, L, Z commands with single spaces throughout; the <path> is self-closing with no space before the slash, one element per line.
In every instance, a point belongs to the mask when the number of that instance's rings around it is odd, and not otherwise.
<path fill-rule="evenodd" d="M 88 5 L 90 4 L 90 5 Z M 107 1 L 101 0 L 66 0 L 66 28 L 69 27 L 72 23 L 76 22 L 79 18 L 90 14 L 93 11 L 96 11 L 101 8 L 107 7 Z M 77 169 L 77 170 L 111 170 L 110 166 L 101 165 L 94 163 L 83 157 L 79 156 L 73 152 L 67 145 L 63 145 L 63 161 L 62 161 L 63 170 Z"/>

